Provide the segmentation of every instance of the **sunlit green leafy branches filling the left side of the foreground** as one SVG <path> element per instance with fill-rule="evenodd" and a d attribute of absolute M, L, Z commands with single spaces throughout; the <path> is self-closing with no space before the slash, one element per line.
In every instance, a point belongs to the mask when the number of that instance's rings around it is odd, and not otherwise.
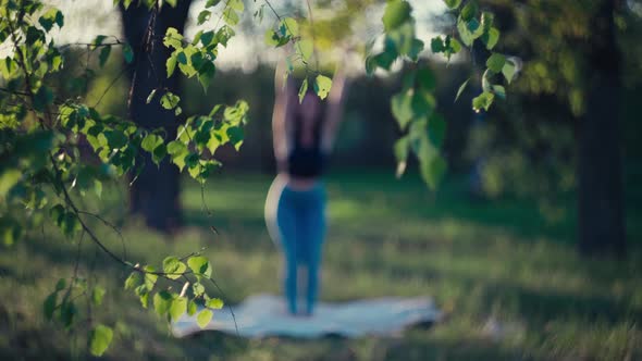
<path fill-rule="evenodd" d="M 174 7 L 176 1 L 133 4 L 125 0 L 123 4 L 125 8 L 147 5 L 153 12 L 163 5 Z M 215 4 L 208 2 L 208 7 Z M 152 300 L 156 312 L 169 321 L 185 313 L 188 304 L 218 308 L 220 304 L 212 303 L 201 284 L 211 281 L 211 266 L 205 257 L 195 253 L 186 258 L 187 263 L 185 259 L 168 257 L 162 272 L 151 265 L 135 265 L 115 256 L 95 236 L 86 222 L 90 214 L 74 199 L 89 191 L 100 197 L 104 182 L 128 173 L 138 174 L 143 166 L 153 166 L 143 163 L 145 152 L 156 164 L 169 158 L 181 171 L 186 170 L 205 184 L 221 165 L 213 157 L 218 147 L 230 144 L 239 149 L 243 145 L 248 104 L 245 101 L 219 104 L 209 114 L 181 119 L 181 98 L 163 88 L 153 89 L 147 102 L 158 101 L 182 122 L 177 137 L 168 139 L 162 128 L 148 129 L 126 119 L 99 113 L 95 105 L 85 102 L 84 96 L 59 99 L 50 78 L 62 69 L 66 53 L 57 47 L 49 33 L 64 26 L 63 14 L 40 1 L 2 0 L 0 5 L 0 42 L 7 41 L 14 49 L 0 59 L 0 235 L 4 244 L 14 244 L 24 229 L 50 220 L 70 240 L 79 237 L 79 242 L 88 236 L 114 261 L 131 269 L 125 288 L 132 289 L 144 307 Z M 237 22 L 243 11 L 242 1 L 227 1 L 224 12 L 229 25 L 198 34 L 192 42 L 185 42 L 176 29 L 170 28 L 163 41 L 173 49 L 166 64 L 169 76 L 177 69 L 187 77 L 197 77 L 207 90 L 215 74 L 213 61 L 219 45 L 224 47 L 234 36 L 230 25 Z M 123 47 L 125 62 L 133 61 L 128 45 L 102 35 L 87 51 L 96 53 L 98 66 L 103 66 L 114 46 Z M 89 66 L 87 63 L 81 76 L 94 74 Z M 183 285 L 180 294 L 171 286 L 177 282 Z M 190 284 L 196 290 L 192 294 L 186 291 Z M 100 307 L 106 290 L 74 274 L 71 281 L 61 279 L 55 285 L 45 299 L 42 311 L 48 320 L 55 320 L 67 329 L 88 327 L 87 347 L 92 354 L 101 356 L 113 338 L 113 331 L 103 324 L 94 325 L 90 318 L 85 322 L 84 311 L 76 304 L 82 295 L 88 295 L 91 307 Z"/>

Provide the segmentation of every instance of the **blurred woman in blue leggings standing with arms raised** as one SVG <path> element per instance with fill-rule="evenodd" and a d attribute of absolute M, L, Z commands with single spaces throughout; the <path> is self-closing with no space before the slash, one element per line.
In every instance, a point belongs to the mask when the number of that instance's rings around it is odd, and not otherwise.
<path fill-rule="evenodd" d="M 325 110 L 313 92 L 307 92 L 299 103 L 292 82 L 285 86 L 283 82 L 280 65 L 274 79 L 272 117 L 279 175 L 268 192 L 266 222 L 284 256 L 287 311 L 309 316 L 317 301 L 325 237 L 325 189 L 321 176 L 341 119 L 345 77 L 341 71 L 335 75 Z M 297 291 L 305 295 L 305 308 L 299 306 Z"/>

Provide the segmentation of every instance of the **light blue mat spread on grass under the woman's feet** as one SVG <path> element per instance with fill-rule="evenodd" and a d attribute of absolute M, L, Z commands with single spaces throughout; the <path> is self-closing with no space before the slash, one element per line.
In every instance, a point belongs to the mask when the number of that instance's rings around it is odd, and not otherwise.
<path fill-rule="evenodd" d="M 215 329 L 248 338 L 359 337 L 399 334 L 408 326 L 436 322 L 441 316 L 441 312 L 427 297 L 320 302 L 314 314 L 309 318 L 289 315 L 285 312 L 283 299 L 272 295 L 251 296 L 232 309 L 236 324 L 230 308 L 225 307 L 214 312 L 212 321 L 205 328 L 198 326 L 196 315 L 184 315 L 172 324 L 172 333 L 176 337 L 184 337 L 203 329 Z"/>

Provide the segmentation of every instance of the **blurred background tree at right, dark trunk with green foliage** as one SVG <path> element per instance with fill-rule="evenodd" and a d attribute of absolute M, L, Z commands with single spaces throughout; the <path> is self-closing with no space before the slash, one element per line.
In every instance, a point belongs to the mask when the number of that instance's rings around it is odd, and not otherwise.
<path fill-rule="evenodd" d="M 498 49 L 524 64 L 507 102 L 472 133 L 470 153 L 486 160 L 486 194 L 534 194 L 555 222 L 575 213 L 555 203 L 577 189 L 578 249 L 624 254 L 622 69 L 631 94 L 640 78 L 640 46 L 631 41 L 639 18 L 620 1 L 480 5 L 495 14 Z"/>

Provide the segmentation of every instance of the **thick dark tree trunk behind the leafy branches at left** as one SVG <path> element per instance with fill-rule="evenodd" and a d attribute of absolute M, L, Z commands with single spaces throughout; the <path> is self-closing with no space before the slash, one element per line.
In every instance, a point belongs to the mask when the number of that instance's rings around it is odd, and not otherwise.
<path fill-rule="evenodd" d="M 160 89 L 177 92 L 178 78 L 166 77 L 165 62 L 171 51 L 162 38 L 169 27 L 183 33 L 190 2 L 181 0 L 175 9 L 165 4 L 156 14 L 144 5 L 132 4 L 127 10 L 121 5 L 125 37 L 134 50 L 129 115 L 145 128 L 164 127 L 169 139 L 176 137 L 178 123 L 172 111 L 160 105 Z M 147 97 L 157 88 L 157 98 L 147 104 Z M 147 153 L 143 161 L 145 166 L 129 189 L 129 211 L 143 215 L 152 228 L 172 232 L 182 222 L 178 170 L 166 159 L 157 166 Z"/>

